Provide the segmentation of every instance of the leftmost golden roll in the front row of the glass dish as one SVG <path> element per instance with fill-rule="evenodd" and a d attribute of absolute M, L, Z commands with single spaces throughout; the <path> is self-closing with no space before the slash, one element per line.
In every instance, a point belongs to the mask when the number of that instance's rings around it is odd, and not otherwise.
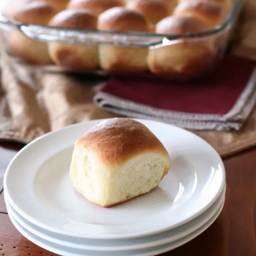
<path fill-rule="evenodd" d="M 22 6 L 15 12 L 13 20 L 34 25 L 47 25 L 49 20 L 57 14 L 57 10 L 43 1 L 35 1 Z M 32 40 L 21 31 L 13 30 L 9 33 L 8 50 L 12 55 L 30 64 L 50 64 L 47 43 Z"/>

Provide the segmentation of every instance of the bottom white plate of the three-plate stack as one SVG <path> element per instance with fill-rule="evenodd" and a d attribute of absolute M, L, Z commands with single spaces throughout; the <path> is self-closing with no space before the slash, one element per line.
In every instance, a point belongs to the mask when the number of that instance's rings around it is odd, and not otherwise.
<path fill-rule="evenodd" d="M 46 241 L 40 238 L 39 236 L 34 235 L 33 233 L 26 230 L 25 228 L 23 228 L 11 214 L 9 214 L 9 217 L 11 219 L 11 222 L 16 227 L 16 229 L 28 240 L 42 247 L 45 250 L 52 251 L 62 256 L 153 256 L 153 255 L 159 255 L 164 252 L 173 250 L 183 244 L 186 244 L 187 242 L 191 241 L 192 239 L 196 238 L 198 235 L 203 233 L 203 231 L 209 228 L 209 226 L 212 225 L 212 223 L 218 218 L 224 206 L 224 201 L 225 199 L 223 200 L 222 205 L 220 206 L 217 213 L 215 213 L 213 218 L 210 219 L 206 224 L 204 224 L 201 228 L 197 229 L 193 233 L 165 245 L 156 246 L 148 249 L 142 249 L 142 250 L 133 250 L 133 251 L 116 251 L 116 252 L 89 251 L 89 250 L 86 251 L 86 250 L 72 249 L 70 247 L 57 245 L 57 244 L 54 244 L 53 242 Z"/>

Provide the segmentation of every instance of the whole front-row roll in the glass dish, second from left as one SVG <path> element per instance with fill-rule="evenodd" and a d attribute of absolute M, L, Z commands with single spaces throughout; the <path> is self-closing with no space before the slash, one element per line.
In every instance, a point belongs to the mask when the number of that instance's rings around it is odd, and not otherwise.
<path fill-rule="evenodd" d="M 53 17 L 49 26 L 95 30 L 97 17 L 86 10 L 64 10 Z M 59 66 L 77 70 L 98 68 L 96 45 L 49 42 L 48 49 L 51 59 Z"/>

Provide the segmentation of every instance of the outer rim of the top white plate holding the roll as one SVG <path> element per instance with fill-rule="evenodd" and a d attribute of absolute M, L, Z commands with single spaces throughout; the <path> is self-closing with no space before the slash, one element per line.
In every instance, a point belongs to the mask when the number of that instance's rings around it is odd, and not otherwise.
<path fill-rule="evenodd" d="M 49 224 L 44 224 L 42 223 L 41 221 L 38 221 L 36 218 L 34 217 L 31 217 L 28 213 L 24 212 L 23 210 L 20 209 L 20 207 L 18 207 L 18 205 L 12 200 L 9 192 L 8 192 L 8 186 L 7 186 L 7 178 L 8 178 L 8 174 L 9 174 L 9 171 L 11 169 L 11 166 L 13 164 L 13 162 L 20 156 L 21 153 L 23 153 L 23 151 L 27 150 L 28 147 L 30 147 L 31 145 L 33 145 L 34 143 L 38 142 L 39 140 L 42 140 L 46 137 L 48 137 L 49 135 L 51 134 L 54 134 L 54 133 L 58 133 L 60 131 L 63 131 L 63 130 L 68 130 L 72 127 L 77 127 L 77 126 L 83 126 L 85 124 L 90 124 L 90 123 L 97 123 L 97 122 L 101 122 L 101 121 L 104 121 L 104 120 L 108 120 L 108 119 L 112 119 L 112 118 L 102 118 L 102 119 L 94 119 L 94 120 L 89 120 L 89 121 L 84 121 L 84 122 L 80 122 L 80 123 L 75 123 L 75 124 L 70 124 L 68 126 L 65 126 L 65 127 L 62 127 L 62 128 L 59 128 L 57 130 L 54 130 L 54 131 L 51 131 L 51 132 L 48 132 L 46 134 L 43 134 L 41 135 L 40 137 L 32 140 L 30 143 L 28 143 L 27 145 L 25 145 L 20 151 L 18 151 L 18 153 L 14 156 L 14 158 L 12 158 L 12 160 L 10 161 L 9 165 L 7 166 L 7 169 L 5 171 L 5 174 L 4 174 L 4 189 L 5 189 L 5 193 L 8 194 L 8 198 L 9 198 L 9 202 L 11 203 L 12 207 L 25 219 L 28 219 L 31 223 L 37 225 L 37 226 L 40 226 L 41 228 L 44 228 L 44 229 L 47 229 L 49 231 L 52 231 L 54 233 L 57 233 L 57 234 L 63 234 L 63 235 L 69 235 L 69 236 L 73 236 L 73 237 L 81 237 L 81 238 L 93 238 L 93 239 L 126 239 L 126 238 L 129 238 L 131 236 L 131 234 L 97 234 L 97 235 L 93 235 L 93 236 L 87 236 L 87 235 L 81 235 L 81 234 L 73 234 L 71 233 L 70 231 L 66 231 L 66 230 L 62 230 L 62 229 L 58 229 L 58 228 L 53 228 L 52 226 L 50 226 Z M 212 204 L 217 200 L 217 198 L 220 196 L 220 193 L 222 192 L 223 190 L 223 187 L 224 187 L 224 184 L 225 184 L 225 178 L 226 178 L 226 172 L 225 172 L 225 166 L 224 166 L 224 163 L 222 161 L 222 158 L 220 157 L 220 155 L 218 154 L 218 152 L 213 148 L 212 145 L 210 145 L 208 142 L 206 142 L 206 140 L 202 139 L 201 137 L 199 137 L 197 134 L 194 134 L 186 129 L 183 129 L 183 128 L 180 128 L 180 127 L 177 127 L 177 126 L 174 126 L 172 124 L 168 124 L 168 123 L 164 123 L 164 122 L 159 122 L 159 121 L 154 121 L 154 120 L 151 120 L 151 119 L 141 119 L 141 118 L 129 118 L 129 119 L 134 119 L 136 121 L 139 121 L 139 122 L 151 122 L 151 123 L 155 123 L 155 124 L 159 124 L 159 125 L 162 125 L 162 124 L 165 124 L 167 126 L 170 126 L 171 128 L 173 129 L 178 129 L 182 132 L 186 132 L 186 133 L 189 133 L 191 134 L 192 136 L 196 137 L 197 139 L 201 140 L 202 142 L 206 143 L 210 150 L 215 154 L 215 156 L 217 157 L 217 160 L 218 160 L 218 164 L 220 164 L 221 166 L 221 169 L 222 169 L 222 186 L 219 188 L 219 191 L 218 193 L 215 194 L 215 197 L 212 199 L 212 201 L 210 201 L 204 208 L 202 208 L 200 211 L 198 211 L 196 214 L 192 215 L 191 217 L 189 218 L 186 218 L 185 220 L 179 222 L 178 224 L 176 225 L 172 225 L 171 227 L 170 226 L 167 226 L 167 227 L 164 227 L 164 228 L 159 228 L 157 230 L 151 230 L 151 231 L 143 231 L 143 232 L 137 232 L 135 234 L 133 234 L 132 236 L 134 238 L 136 237 L 142 237 L 142 236 L 148 236 L 148 235 L 153 235 L 153 234 L 158 234 L 158 233 L 161 233 L 161 232 L 164 232 L 164 231 L 168 231 L 168 230 L 171 230 L 173 228 L 176 228 L 178 226 L 181 226 L 189 221 L 191 221 L 192 219 L 198 217 L 202 212 L 204 212 L 205 210 L 207 210 L 210 206 L 212 206 Z"/>

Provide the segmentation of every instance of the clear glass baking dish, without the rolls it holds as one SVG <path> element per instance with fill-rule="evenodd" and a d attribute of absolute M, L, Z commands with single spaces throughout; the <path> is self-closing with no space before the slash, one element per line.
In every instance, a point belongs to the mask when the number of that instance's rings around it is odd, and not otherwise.
<path fill-rule="evenodd" d="M 15 0 L 14 0 L 15 1 Z M 149 32 L 118 32 L 118 31 L 100 31 L 100 30 L 85 30 L 85 29 L 71 29 L 68 27 L 54 27 L 42 26 L 20 23 L 11 20 L 11 10 L 20 8 L 22 1 L 16 0 L 19 4 L 11 4 L 12 0 L 1 0 L 0 3 L 0 39 L 5 53 L 10 58 L 9 63 L 15 66 L 22 65 L 27 68 L 40 68 L 42 71 L 54 72 L 79 72 L 79 73 L 97 73 L 100 75 L 119 74 L 119 75 L 139 75 L 139 76 L 161 76 L 175 80 L 189 80 L 198 78 L 208 74 L 214 69 L 214 66 L 223 58 L 226 49 L 229 45 L 230 37 L 233 33 L 235 24 L 241 10 L 243 0 L 234 0 L 234 4 L 226 16 L 225 21 L 211 29 L 199 33 L 186 34 L 157 34 Z M 23 0 L 24 1 L 24 0 Z M 31 1 L 31 0 L 30 0 Z M 10 7 L 11 6 L 11 7 Z M 15 8 L 14 8 L 15 6 Z M 22 36 L 29 38 L 31 41 L 41 41 L 49 44 L 50 42 L 59 42 L 62 44 L 76 45 L 94 45 L 101 47 L 112 46 L 123 49 L 148 49 L 154 51 L 156 49 L 167 49 L 166 47 L 189 43 L 190 45 L 198 44 L 198 42 L 214 42 L 213 54 L 207 64 L 202 65 L 201 68 L 193 69 L 193 71 L 166 71 L 160 73 L 151 72 L 149 69 L 144 71 L 116 71 L 103 70 L 100 67 L 94 69 L 80 69 L 69 66 L 61 66 L 50 63 L 33 63 L 26 58 L 15 55 L 10 52 L 9 38 L 13 32 L 18 32 Z M 19 39 L 17 38 L 17 42 Z M 115 49 L 116 49 L 115 48 Z M 169 49 L 168 48 L 168 49 Z M 38 48 L 40 50 L 40 48 Z M 172 48 L 170 48 L 171 53 Z M 168 53 L 168 52 L 167 52 Z M 118 64 L 118 63 L 117 63 Z"/>

